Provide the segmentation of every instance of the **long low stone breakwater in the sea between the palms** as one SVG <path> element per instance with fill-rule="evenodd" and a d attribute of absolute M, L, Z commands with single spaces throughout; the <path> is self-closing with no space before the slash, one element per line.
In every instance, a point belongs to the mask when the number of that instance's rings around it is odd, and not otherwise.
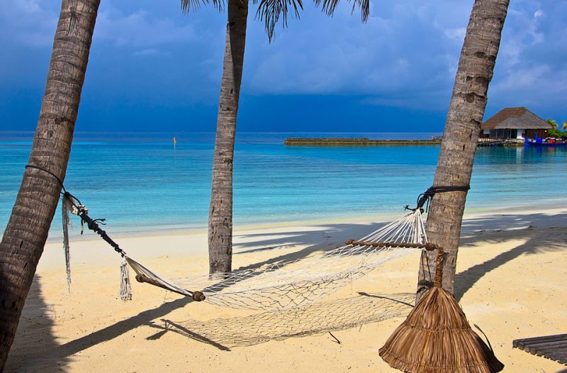
<path fill-rule="evenodd" d="M 441 139 L 432 140 L 371 140 L 369 138 L 286 138 L 283 145 L 290 146 L 383 146 L 383 145 L 439 145 Z"/>

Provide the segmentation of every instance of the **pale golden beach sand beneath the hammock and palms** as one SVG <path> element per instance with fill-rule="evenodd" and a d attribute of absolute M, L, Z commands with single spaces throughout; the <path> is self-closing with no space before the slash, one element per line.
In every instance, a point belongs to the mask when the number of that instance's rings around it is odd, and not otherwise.
<path fill-rule="evenodd" d="M 374 230 L 376 220 L 235 228 L 234 267 L 336 247 Z M 133 301 L 122 302 L 120 257 L 86 235 L 72 240 L 70 294 L 62 245 L 48 241 L 6 372 L 396 372 L 378 348 L 410 309 L 417 251 L 306 309 L 262 313 L 137 283 Z M 206 271 L 204 231 L 117 237 L 161 274 Z M 505 372 L 567 372 L 512 348 L 517 338 L 567 332 L 566 279 L 566 206 L 466 214 L 455 294 Z"/>

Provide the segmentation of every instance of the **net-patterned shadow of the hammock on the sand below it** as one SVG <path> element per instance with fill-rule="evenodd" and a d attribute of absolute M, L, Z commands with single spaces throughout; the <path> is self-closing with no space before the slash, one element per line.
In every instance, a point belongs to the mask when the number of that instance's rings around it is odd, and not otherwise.
<path fill-rule="evenodd" d="M 230 347 L 252 346 L 270 340 L 317 335 L 376 323 L 388 318 L 403 317 L 410 312 L 414 299 L 414 294 L 382 296 L 359 293 L 359 296 L 349 299 L 320 301 L 277 312 L 215 318 L 206 322 L 192 319 L 173 322 L 162 319 L 162 323 L 151 323 L 150 326 L 160 330 L 156 333 L 157 338 L 163 335 L 164 331 L 170 330 L 227 351 Z M 195 330 L 198 330 L 198 334 Z M 157 338 L 152 336 L 152 339 Z"/>

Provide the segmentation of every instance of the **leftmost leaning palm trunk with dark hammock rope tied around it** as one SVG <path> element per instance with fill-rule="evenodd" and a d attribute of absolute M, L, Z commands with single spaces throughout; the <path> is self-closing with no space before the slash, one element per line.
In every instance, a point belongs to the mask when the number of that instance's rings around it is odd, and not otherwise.
<path fill-rule="evenodd" d="M 100 0 L 62 0 L 29 165 L 64 179 Z M 61 185 L 26 168 L 0 243 L 0 371 L 13 342 Z"/>

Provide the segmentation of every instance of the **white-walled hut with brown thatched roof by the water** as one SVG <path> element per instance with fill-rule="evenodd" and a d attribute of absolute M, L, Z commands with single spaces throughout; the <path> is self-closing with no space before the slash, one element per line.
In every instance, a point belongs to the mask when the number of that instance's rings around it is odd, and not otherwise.
<path fill-rule="evenodd" d="M 527 108 L 504 108 L 481 125 L 483 138 L 547 137 L 553 126 Z"/>

